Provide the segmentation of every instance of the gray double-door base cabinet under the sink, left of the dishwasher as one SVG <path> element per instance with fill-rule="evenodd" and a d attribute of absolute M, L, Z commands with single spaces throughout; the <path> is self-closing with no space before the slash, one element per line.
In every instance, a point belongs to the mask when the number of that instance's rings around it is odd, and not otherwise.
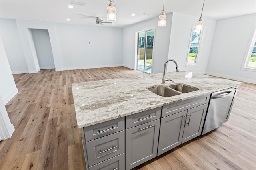
<path fill-rule="evenodd" d="M 205 99 L 206 97 L 208 96 L 205 96 Z M 202 99 L 202 97 L 199 99 Z M 178 104 L 175 104 L 174 108 L 176 108 L 176 105 Z M 183 108 L 188 110 L 178 113 L 173 112 L 173 104 L 165 106 L 166 109 L 163 107 L 162 116 L 167 114 L 171 115 L 161 118 L 158 156 L 188 140 L 200 136 L 208 103 L 197 107 L 194 107 L 195 105 L 197 105 L 197 103 L 193 103 L 193 105 L 190 105 L 190 103 L 188 105 L 183 105 Z M 180 111 L 180 109 L 177 109 L 176 111 Z"/>

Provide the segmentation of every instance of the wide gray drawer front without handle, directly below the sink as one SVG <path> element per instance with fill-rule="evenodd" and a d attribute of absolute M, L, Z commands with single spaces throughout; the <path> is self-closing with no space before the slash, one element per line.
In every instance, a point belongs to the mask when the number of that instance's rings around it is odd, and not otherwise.
<path fill-rule="evenodd" d="M 172 115 L 187 109 L 191 109 L 196 106 L 200 106 L 209 102 L 210 94 L 194 97 L 192 99 L 172 103 L 170 105 L 163 106 L 162 117 Z"/>

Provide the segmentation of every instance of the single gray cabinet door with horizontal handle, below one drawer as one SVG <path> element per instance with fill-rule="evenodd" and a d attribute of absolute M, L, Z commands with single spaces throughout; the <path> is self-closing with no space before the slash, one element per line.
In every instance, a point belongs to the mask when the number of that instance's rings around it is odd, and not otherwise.
<path fill-rule="evenodd" d="M 160 119 L 125 130 L 125 167 L 130 170 L 157 154 Z"/>

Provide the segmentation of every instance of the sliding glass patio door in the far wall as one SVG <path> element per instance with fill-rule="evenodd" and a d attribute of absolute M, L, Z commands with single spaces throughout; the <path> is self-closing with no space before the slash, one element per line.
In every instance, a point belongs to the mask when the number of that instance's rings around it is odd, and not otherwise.
<path fill-rule="evenodd" d="M 137 70 L 151 74 L 154 30 L 138 32 Z"/>

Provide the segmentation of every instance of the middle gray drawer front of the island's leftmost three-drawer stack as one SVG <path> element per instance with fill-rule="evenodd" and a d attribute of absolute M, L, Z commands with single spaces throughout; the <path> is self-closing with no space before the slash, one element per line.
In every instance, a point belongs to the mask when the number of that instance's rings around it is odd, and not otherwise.
<path fill-rule="evenodd" d="M 124 153 L 124 137 L 123 130 L 86 142 L 88 165 L 92 166 Z"/>

